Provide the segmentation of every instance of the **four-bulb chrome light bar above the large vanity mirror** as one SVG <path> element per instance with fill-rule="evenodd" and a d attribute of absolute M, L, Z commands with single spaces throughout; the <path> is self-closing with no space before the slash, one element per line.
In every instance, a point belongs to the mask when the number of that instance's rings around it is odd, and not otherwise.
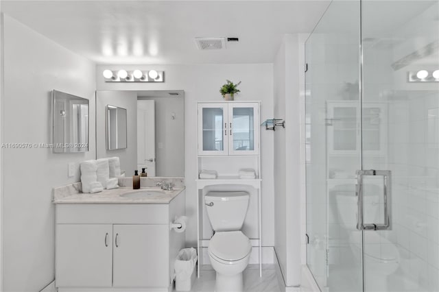
<path fill-rule="evenodd" d="M 165 82 L 165 71 L 156 70 L 109 70 L 102 72 L 105 82 Z"/>

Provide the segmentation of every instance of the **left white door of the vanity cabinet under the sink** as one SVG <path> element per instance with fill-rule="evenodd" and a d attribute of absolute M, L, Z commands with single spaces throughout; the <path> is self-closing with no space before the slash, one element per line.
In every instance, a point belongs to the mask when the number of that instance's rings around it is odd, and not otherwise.
<path fill-rule="evenodd" d="M 111 224 L 56 224 L 56 287 L 111 287 L 111 240 Z"/>

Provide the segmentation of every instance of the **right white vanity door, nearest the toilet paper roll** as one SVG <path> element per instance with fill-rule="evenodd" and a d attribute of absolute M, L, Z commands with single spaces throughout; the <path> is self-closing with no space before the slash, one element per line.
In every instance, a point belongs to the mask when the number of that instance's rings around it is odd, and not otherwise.
<path fill-rule="evenodd" d="M 113 226 L 113 287 L 169 286 L 169 226 Z"/>

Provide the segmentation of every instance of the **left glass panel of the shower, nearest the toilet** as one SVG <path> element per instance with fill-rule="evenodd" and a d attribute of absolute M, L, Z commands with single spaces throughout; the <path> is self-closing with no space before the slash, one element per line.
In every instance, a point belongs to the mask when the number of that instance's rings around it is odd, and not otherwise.
<path fill-rule="evenodd" d="M 333 1 L 305 44 L 307 265 L 322 291 L 363 291 L 359 8 Z"/>

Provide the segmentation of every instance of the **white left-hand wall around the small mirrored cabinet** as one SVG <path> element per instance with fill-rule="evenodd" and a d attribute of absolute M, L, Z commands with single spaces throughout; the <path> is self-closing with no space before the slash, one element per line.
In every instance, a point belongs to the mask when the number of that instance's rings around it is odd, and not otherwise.
<path fill-rule="evenodd" d="M 2 143 L 51 143 L 53 89 L 90 100 L 88 152 L 3 149 L 3 291 L 40 291 L 55 273 L 52 188 L 78 182 L 78 163 L 95 158 L 95 66 L 7 15 L 3 29 Z"/>

